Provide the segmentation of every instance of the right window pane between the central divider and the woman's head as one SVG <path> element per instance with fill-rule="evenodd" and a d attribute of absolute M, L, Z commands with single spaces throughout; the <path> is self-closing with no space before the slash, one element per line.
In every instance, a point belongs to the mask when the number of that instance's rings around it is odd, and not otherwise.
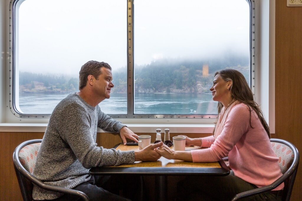
<path fill-rule="evenodd" d="M 214 73 L 234 68 L 249 82 L 246 1 L 152 0 L 134 8 L 134 114 L 217 114 Z"/>

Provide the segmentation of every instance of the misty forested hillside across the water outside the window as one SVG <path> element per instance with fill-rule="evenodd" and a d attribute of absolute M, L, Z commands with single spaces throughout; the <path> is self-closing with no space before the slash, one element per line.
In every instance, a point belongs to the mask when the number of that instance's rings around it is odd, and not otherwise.
<path fill-rule="evenodd" d="M 248 79 L 247 58 L 220 58 L 207 61 L 161 59 L 135 66 L 136 93 L 209 93 L 214 73 L 233 68 Z M 127 93 L 127 69 L 113 69 L 112 93 Z M 20 93 L 71 93 L 78 91 L 79 78 L 19 72 Z"/>

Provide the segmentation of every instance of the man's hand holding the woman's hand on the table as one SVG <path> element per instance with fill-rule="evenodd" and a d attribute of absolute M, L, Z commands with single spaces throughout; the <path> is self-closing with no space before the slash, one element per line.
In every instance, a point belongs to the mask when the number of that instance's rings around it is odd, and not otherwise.
<path fill-rule="evenodd" d="M 135 161 L 157 161 L 160 158 L 160 155 L 156 153 L 155 150 L 162 145 L 163 143 L 159 142 L 156 144 L 150 144 L 140 151 L 135 151 Z"/>

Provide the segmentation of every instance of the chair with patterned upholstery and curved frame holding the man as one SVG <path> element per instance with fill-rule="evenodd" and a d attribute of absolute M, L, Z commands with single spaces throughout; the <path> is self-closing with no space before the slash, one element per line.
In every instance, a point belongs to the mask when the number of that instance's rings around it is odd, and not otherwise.
<path fill-rule="evenodd" d="M 38 187 L 46 190 L 79 196 L 83 200 L 88 201 L 88 196 L 81 191 L 44 184 L 41 180 L 32 175 L 41 142 L 42 140 L 28 140 L 21 143 L 14 150 L 14 168 L 18 178 L 18 183 L 23 200 L 32 200 L 33 184 L 36 184 Z"/>

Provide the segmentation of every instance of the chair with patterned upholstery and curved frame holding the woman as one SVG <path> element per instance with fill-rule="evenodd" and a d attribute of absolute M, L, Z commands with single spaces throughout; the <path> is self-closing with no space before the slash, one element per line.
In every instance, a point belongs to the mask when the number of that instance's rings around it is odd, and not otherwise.
<path fill-rule="evenodd" d="M 282 182 L 284 182 L 282 200 L 289 201 L 298 170 L 299 152 L 292 143 L 286 140 L 271 139 L 271 145 L 279 158 L 278 163 L 283 175 L 268 186 L 238 193 L 232 201 L 273 190 Z"/>

